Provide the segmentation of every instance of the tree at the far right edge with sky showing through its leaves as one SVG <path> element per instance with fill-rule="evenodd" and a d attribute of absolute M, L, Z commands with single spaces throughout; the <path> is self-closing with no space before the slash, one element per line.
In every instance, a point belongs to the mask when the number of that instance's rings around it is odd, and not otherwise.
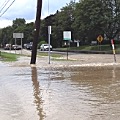
<path fill-rule="evenodd" d="M 109 39 L 114 39 L 120 32 L 120 0 L 100 0 L 103 7 L 101 29 Z"/>

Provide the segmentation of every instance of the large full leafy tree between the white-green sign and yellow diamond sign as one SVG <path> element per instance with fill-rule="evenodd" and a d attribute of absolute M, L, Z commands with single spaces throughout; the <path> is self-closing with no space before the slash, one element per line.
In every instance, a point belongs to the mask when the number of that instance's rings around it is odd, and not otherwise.
<path fill-rule="evenodd" d="M 75 31 L 75 39 L 90 42 L 95 40 L 98 34 L 103 34 L 100 30 L 101 23 L 99 22 L 101 7 L 99 0 L 83 0 L 80 3 L 76 3 L 75 20 L 72 25 Z"/>

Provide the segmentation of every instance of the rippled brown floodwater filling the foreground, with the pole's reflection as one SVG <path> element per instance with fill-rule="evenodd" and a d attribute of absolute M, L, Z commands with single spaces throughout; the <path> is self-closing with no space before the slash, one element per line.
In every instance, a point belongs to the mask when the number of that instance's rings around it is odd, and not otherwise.
<path fill-rule="evenodd" d="M 0 68 L 0 120 L 120 119 L 117 66 Z"/>

